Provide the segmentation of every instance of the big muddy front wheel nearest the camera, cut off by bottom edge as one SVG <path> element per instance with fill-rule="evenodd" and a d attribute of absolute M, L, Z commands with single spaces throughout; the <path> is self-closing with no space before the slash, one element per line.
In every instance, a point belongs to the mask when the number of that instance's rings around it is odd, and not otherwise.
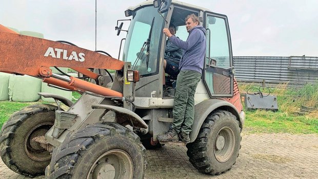
<path fill-rule="evenodd" d="M 144 178 L 145 148 L 117 123 L 87 125 L 53 150 L 47 178 Z"/>

